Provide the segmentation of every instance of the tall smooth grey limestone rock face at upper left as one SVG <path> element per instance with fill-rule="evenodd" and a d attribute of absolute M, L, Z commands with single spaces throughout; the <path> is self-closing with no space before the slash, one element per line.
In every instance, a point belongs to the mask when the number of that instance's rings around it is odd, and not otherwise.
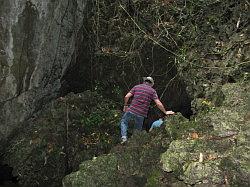
<path fill-rule="evenodd" d="M 0 0 L 0 141 L 56 97 L 86 1 Z"/>

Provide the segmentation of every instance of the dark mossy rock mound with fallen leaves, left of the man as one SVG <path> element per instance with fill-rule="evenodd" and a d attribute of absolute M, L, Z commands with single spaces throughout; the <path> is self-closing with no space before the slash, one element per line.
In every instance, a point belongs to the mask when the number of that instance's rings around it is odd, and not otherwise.
<path fill-rule="evenodd" d="M 120 113 L 114 108 L 96 92 L 58 98 L 23 124 L 3 163 L 13 167 L 20 185 L 59 186 L 82 161 L 109 152 L 118 142 Z"/>

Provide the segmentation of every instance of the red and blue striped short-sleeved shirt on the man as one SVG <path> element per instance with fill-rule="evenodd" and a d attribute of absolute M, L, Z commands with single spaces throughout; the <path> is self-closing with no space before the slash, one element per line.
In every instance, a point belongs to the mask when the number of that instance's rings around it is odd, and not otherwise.
<path fill-rule="evenodd" d="M 150 102 L 158 99 L 156 91 L 147 83 L 134 86 L 130 91 L 133 94 L 128 112 L 147 117 Z"/>

